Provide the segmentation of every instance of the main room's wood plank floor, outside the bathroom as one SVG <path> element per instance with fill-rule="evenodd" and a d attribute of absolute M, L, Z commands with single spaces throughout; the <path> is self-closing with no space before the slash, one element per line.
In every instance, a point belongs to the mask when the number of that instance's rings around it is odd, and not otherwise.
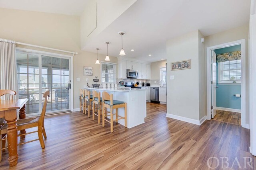
<path fill-rule="evenodd" d="M 49 116 L 45 119 L 47 139 L 42 150 L 38 141 L 18 146 L 19 160 L 11 169 L 210 169 L 215 156 L 235 158 L 244 167 L 249 152 L 250 130 L 220 121 L 205 121 L 201 126 L 166 117 L 166 105 L 147 103 L 146 123 L 128 129 L 114 123 L 103 128 L 97 120 L 80 112 Z M 31 131 L 33 129 L 30 129 Z M 27 135 L 25 141 L 37 138 Z M 8 169 L 4 152 L 0 169 Z M 224 159 L 226 160 L 226 159 Z M 226 166 L 226 164 L 224 164 Z M 238 169 L 238 165 L 233 166 Z M 248 169 L 250 168 L 247 165 Z"/>

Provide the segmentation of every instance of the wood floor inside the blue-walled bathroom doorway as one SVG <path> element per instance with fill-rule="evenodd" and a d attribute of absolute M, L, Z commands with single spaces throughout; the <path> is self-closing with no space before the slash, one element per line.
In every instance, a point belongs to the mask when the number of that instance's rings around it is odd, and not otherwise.
<path fill-rule="evenodd" d="M 241 126 L 241 113 L 217 110 L 213 119 Z"/>

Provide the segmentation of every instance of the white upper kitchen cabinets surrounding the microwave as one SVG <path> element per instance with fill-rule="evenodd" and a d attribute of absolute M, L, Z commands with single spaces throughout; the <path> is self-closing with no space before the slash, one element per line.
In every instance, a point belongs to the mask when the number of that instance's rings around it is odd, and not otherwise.
<path fill-rule="evenodd" d="M 151 65 L 134 61 L 118 60 L 118 78 L 127 78 L 127 69 L 138 70 L 138 79 L 150 80 Z"/>

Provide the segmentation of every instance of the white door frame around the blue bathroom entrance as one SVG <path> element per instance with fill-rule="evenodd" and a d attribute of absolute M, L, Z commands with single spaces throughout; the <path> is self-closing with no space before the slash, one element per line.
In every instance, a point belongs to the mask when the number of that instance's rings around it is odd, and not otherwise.
<path fill-rule="evenodd" d="M 206 70 L 207 70 L 207 119 L 211 119 L 211 80 L 212 80 L 212 69 L 211 69 L 211 51 L 224 47 L 230 47 L 234 45 L 241 45 L 241 63 L 242 63 L 242 80 L 241 80 L 241 125 L 244 128 L 246 126 L 246 39 L 240 39 L 229 43 L 223 43 L 220 45 L 214 45 L 206 48 Z"/>

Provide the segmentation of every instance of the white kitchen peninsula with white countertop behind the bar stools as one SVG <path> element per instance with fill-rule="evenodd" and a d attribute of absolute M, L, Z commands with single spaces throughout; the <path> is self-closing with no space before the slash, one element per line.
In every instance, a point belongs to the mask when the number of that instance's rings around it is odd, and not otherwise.
<path fill-rule="evenodd" d="M 84 88 L 90 90 L 92 94 L 93 90 L 100 92 L 108 92 L 113 94 L 113 100 L 120 100 L 127 103 L 127 127 L 132 128 L 142 123 L 145 123 L 146 117 L 146 89 L 143 88 Z M 115 113 L 115 110 L 114 110 Z M 118 115 L 124 116 L 124 108 L 118 109 Z M 115 115 L 114 115 L 115 119 Z M 124 125 L 124 119 L 118 120 L 118 123 Z"/>

